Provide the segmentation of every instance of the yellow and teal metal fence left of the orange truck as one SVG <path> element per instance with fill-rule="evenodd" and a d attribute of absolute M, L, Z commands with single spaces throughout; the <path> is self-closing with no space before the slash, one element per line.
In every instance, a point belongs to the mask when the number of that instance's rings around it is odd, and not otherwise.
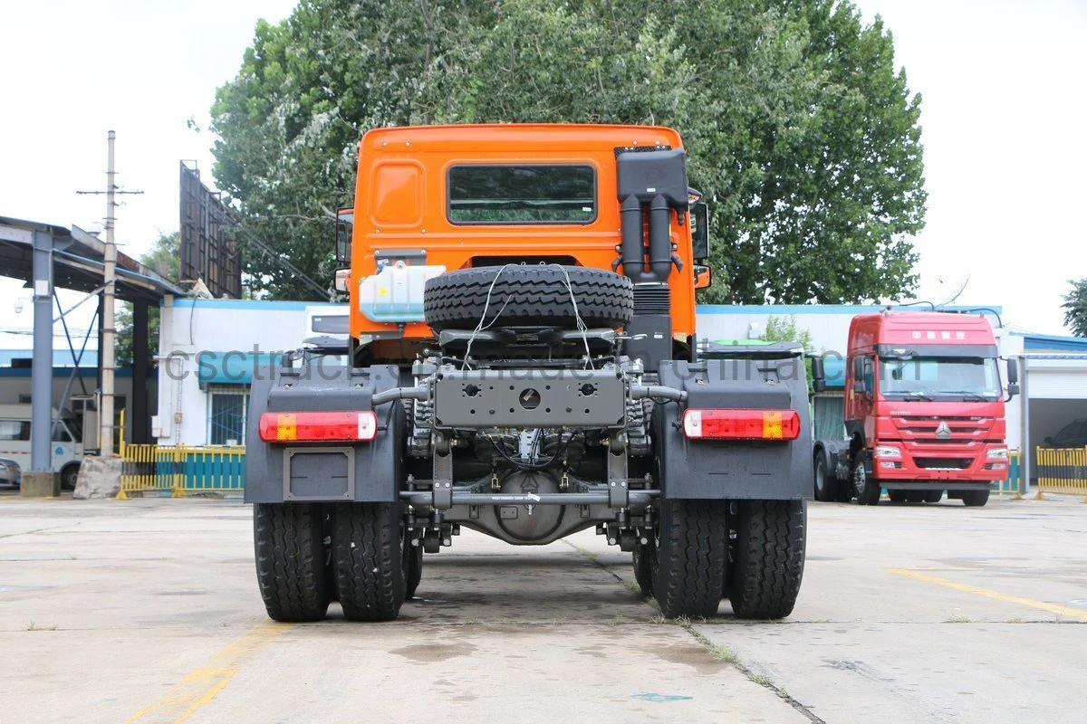
<path fill-rule="evenodd" d="M 239 446 L 125 445 L 118 499 L 130 494 L 240 494 L 246 448 Z"/>

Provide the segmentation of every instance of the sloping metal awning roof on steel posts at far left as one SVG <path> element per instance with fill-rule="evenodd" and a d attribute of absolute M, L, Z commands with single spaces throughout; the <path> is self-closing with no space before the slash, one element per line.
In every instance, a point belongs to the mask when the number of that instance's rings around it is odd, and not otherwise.
<path fill-rule="evenodd" d="M 77 226 L 62 226 L 0 216 L 0 276 L 33 278 L 34 232 L 53 238 L 53 284 L 61 289 L 93 292 L 102 287 L 105 242 Z M 158 304 L 166 294 L 185 292 L 136 259 L 117 253 L 117 299 Z"/>

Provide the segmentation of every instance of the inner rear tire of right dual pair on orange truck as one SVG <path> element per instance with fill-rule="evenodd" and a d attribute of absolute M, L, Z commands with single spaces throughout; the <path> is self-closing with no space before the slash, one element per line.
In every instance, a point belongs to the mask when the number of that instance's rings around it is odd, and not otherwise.
<path fill-rule="evenodd" d="M 716 615 L 728 555 L 725 500 L 661 498 L 652 594 L 670 619 Z"/>

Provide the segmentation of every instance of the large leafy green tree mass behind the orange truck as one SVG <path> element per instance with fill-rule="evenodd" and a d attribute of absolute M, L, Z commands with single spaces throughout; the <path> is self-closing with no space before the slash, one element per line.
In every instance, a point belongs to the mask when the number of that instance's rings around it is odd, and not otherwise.
<path fill-rule="evenodd" d="M 259 23 L 218 89 L 214 175 L 259 237 L 327 278 L 368 128 L 669 125 L 712 203 L 702 301 L 864 302 L 916 283 L 919 114 L 890 34 L 848 1 L 309 0 Z M 258 289 L 305 295 L 247 258 Z"/>

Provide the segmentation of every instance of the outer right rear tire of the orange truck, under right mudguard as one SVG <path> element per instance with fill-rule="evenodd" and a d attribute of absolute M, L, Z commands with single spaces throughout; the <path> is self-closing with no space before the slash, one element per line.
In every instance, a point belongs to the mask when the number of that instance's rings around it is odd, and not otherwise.
<path fill-rule="evenodd" d="M 740 500 L 729 558 L 728 599 L 739 619 L 784 619 L 804 574 L 803 500 Z"/>

